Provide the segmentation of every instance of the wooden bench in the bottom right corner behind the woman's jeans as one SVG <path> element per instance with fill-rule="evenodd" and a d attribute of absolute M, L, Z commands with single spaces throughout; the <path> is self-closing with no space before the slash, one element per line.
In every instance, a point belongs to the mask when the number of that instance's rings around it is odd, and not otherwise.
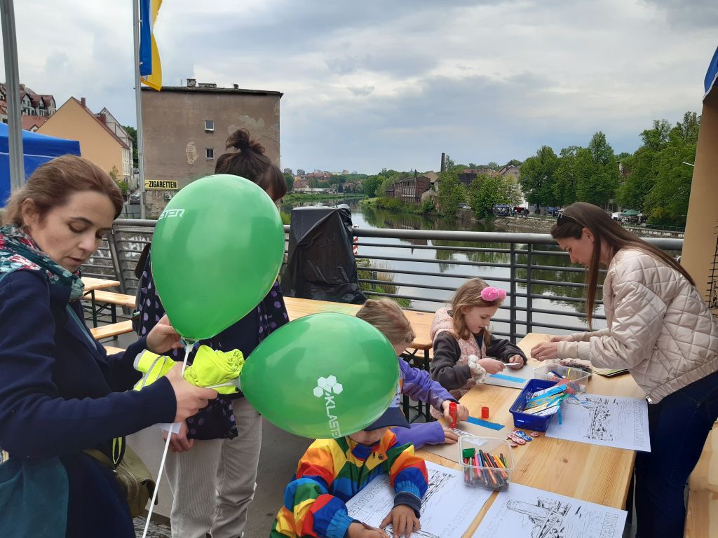
<path fill-rule="evenodd" d="M 688 480 L 686 537 L 718 536 L 718 432 L 714 428 Z"/>

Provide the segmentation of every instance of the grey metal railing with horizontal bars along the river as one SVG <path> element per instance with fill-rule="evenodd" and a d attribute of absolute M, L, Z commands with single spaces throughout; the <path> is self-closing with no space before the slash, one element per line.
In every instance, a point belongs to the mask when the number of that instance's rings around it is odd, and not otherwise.
<path fill-rule="evenodd" d="M 83 267 L 85 275 L 116 278 L 122 293 L 136 293 L 135 265 L 156 222 L 117 220 L 108 240 Z M 289 232 L 289 226 L 284 230 Z M 353 233 L 359 239 L 359 282 L 367 296 L 434 312 L 467 278 L 480 277 L 507 292 L 493 319 L 495 334 L 516 340 L 532 331 L 587 330 L 585 271 L 571 265 L 548 234 L 374 228 L 355 228 Z M 683 247 L 682 239 L 646 240 L 673 256 Z M 605 326 L 600 291 L 597 298 L 594 329 Z"/>

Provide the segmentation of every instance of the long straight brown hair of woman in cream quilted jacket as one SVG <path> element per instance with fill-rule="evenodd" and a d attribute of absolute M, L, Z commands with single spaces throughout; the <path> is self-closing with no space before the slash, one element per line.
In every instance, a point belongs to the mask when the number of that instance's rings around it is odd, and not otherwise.
<path fill-rule="evenodd" d="M 684 275 L 692 285 L 695 285 L 691 275 L 676 260 L 673 260 L 671 256 L 664 253 L 660 248 L 645 242 L 640 237 L 628 232 L 628 230 L 624 230 L 603 209 L 594 204 L 574 202 L 569 205 L 563 210 L 554 227 L 551 228 L 551 237 L 554 237 L 554 239 L 567 239 L 569 237 L 580 239 L 584 228 L 590 230 L 595 237 L 591 263 L 589 263 L 586 273 L 586 315 L 589 329 L 592 329 L 593 309 L 596 303 L 601 245 L 606 245 L 610 257 L 613 257 L 622 248 L 643 250 L 644 253 L 658 258 L 658 260 Z"/>

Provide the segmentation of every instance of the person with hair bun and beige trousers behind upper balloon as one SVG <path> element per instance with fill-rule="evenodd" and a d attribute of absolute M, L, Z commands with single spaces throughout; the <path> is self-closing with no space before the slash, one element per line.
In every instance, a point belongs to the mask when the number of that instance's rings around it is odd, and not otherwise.
<path fill-rule="evenodd" d="M 249 131 L 238 129 L 232 133 L 227 138 L 227 149 L 230 151 L 217 159 L 215 174 L 249 179 L 264 189 L 274 202 L 284 197 L 284 175 L 264 154 L 264 147 L 250 138 Z M 237 209 L 241 210 L 241 207 Z M 208 263 L 212 263 L 211 260 Z M 228 282 L 227 285 L 242 283 Z M 152 281 L 149 256 L 139 288 L 142 321 L 138 332 L 142 335 L 149 332 L 164 314 Z M 287 321 L 289 317 L 281 288 L 279 282 L 275 282 L 253 311 L 212 339 L 197 342 L 197 346 L 204 344 L 218 351 L 239 349 L 244 357 L 249 357 L 260 341 Z M 177 352 L 170 357 L 180 362 L 184 358 Z M 193 358 L 194 351 L 190 354 L 190 363 Z M 218 397 L 212 405 L 187 418 L 179 435 L 172 435 L 165 468 L 173 495 L 170 515 L 173 537 L 242 536 L 248 506 L 254 498 L 261 432 L 261 416 L 240 393 Z M 166 439 L 167 432 L 163 435 Z"/>

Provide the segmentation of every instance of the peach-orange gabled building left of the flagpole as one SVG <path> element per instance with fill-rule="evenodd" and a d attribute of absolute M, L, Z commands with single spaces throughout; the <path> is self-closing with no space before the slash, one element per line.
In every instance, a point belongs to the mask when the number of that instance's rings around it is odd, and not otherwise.
<path fill-rule="evenodd" d="M 85 98 L 71 97 L 37 129 L 38 133 L 80 142 L 80 154 L 101 169 L 116 170 L 117 179 L 130 181 L 132 174 L 132 142 L 124 129 L 118 131 L 113 115 L 106 108 L 93 113 Z M 108 117 L 111 118 L 108 122 Z M 108 124 L 109 123 L 109 124 Z M 121 128 L 121 126 L 120 126 Z M 124 133 L 124 136 L 118 135 Z"/>

